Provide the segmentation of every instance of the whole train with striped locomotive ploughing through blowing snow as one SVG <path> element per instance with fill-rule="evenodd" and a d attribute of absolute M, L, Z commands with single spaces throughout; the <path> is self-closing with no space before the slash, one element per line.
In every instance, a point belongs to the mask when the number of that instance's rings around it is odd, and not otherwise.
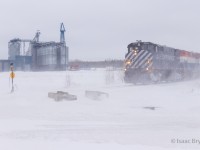
<path fill-rule="evenodd" d="M 137 41 L 128 45 L 124 74 L 128 83 L 197 78 L 200 75 L 200 53 Z"/>

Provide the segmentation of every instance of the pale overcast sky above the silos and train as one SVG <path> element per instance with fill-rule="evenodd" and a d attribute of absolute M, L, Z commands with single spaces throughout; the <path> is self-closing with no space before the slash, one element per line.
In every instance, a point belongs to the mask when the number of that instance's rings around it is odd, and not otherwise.
<path fill-rule="evenodd" d="M 8 41 L 59 41 L 66 28 L 70 60 L 123 59 L 136 40 L 200 52 L 199 0 L 0 0 L 0 59 Z"/>

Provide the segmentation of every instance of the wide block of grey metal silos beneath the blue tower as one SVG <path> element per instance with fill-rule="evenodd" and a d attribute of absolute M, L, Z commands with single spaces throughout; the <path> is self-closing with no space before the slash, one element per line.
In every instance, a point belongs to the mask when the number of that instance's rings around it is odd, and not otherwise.
<path fill-rule="evenodd" d="M 64 43 L 32 44 L 32 70 L 66 70 L 68 48 Z"/>

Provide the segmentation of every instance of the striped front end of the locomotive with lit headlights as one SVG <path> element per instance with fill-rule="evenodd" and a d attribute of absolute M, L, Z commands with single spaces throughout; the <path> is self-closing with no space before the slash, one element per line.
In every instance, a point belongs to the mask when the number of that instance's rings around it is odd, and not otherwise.
<path fill-rule="evenodd" d="M 129 44 L 127 48 L 128 53 L 124 61 L 125 81 L 149 80 L 148 73 L 152 70 L 154 45 L 136 42 Z"/>

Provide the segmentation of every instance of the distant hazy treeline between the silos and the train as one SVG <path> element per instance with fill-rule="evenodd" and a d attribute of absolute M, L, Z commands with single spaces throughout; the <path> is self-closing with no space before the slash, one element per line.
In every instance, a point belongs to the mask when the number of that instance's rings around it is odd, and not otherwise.
<path fill-rule="evenodd" d="M 122 68 L 123 60 L 104 60 L 104 61 L 81 61 L 73 60 L 69 62 L 69 67 L 71 68 Z"/>

